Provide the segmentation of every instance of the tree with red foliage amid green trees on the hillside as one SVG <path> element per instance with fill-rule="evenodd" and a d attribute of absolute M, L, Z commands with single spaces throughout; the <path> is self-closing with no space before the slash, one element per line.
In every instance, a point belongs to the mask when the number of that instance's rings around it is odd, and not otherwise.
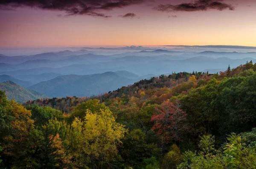
<path fill-rule="evenodd" d="M 182 141 L 181 135 L 189 128 L 186 112 L 180 109 L 178 101 L 175 104 L 165 101 L 159 109 L 156 109 L 151 121 L 155 122 L 152 129 L 165 140 Z"/>

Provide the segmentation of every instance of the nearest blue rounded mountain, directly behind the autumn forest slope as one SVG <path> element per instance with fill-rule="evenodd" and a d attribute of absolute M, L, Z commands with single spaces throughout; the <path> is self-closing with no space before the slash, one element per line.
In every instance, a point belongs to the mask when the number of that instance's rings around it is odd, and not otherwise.
<path fill-rule="evenodd" d="M 130 85 L 138 79 L 129 79 L 115 72 L 91 75 L 64 75 L 40 82 L 29 89 L 41 92 L 50 97 L 91 96 Z"/>

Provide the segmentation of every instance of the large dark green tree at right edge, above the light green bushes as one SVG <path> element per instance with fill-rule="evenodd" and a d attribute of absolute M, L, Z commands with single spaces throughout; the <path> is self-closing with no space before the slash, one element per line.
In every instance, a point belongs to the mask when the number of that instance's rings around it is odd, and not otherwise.
<path fill-rule="evenodd" d="M 225 134 L 249 131 L 256 127 L 255 79 L 256 73 L 222 80 L 219 99 L 228 117 L 223 126 L 223 130 L 228 129 Z"/>

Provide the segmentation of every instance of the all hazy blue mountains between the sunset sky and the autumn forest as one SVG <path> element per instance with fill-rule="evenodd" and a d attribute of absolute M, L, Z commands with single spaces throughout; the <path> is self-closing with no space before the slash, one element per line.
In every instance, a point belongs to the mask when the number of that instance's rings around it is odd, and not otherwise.
<path fill-rule="evenodd" d="M 104 52 L 101 52 L 101 54 Z M 0 55 L 0 82 L 34 89 L 49 97 L 99 95 L 170 72 L 216 73 L 256 61 L 256 52 L 143 50 L 104 55 L 94 51 Z M 146 75 L 145 75 L 146 74 Z"/>

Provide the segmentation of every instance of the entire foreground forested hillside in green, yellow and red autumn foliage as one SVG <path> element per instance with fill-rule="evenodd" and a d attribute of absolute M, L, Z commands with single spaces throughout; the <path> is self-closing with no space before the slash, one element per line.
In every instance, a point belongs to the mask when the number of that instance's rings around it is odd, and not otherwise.
<path fill-rule="evenodd" d="M 0 92 L 0 166 L 255 169 L 255 83 L 251 61 L 23 106 Z"/>

